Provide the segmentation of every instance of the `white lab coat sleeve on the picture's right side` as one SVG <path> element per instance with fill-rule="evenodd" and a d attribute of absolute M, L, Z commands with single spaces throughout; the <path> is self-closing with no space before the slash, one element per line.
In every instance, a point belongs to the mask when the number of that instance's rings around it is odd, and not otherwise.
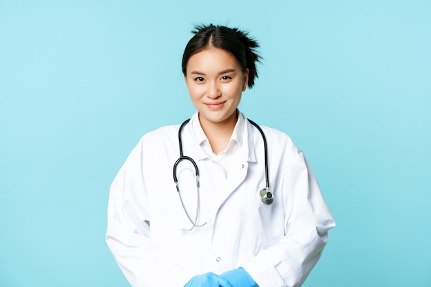
<path fill-rule="evenodd" d="M 284 173 L 285 235 L 243 266 L 260 287 L 300 286 L 322 255 L 328 230 L 335 226 L 302 152 Z"/>

